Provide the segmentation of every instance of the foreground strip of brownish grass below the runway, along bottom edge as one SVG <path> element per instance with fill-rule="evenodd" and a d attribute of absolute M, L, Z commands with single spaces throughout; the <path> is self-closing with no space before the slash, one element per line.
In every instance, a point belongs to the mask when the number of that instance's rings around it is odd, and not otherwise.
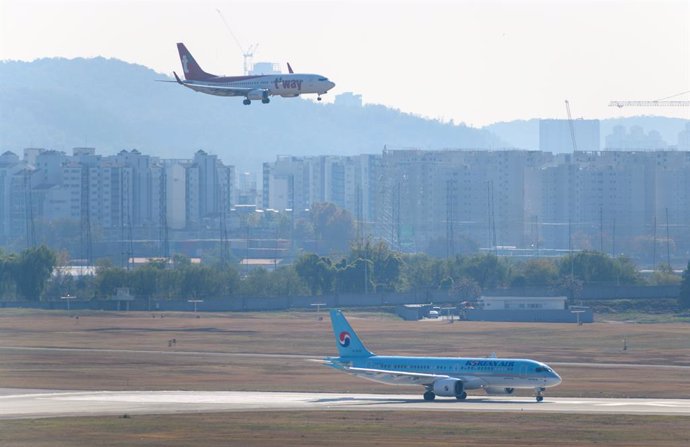
<path fill-rule="evenodd" d="M 687 418 L 444 412 L 255 412 L 0 421 L 4 447 L 686 446 Z"/>

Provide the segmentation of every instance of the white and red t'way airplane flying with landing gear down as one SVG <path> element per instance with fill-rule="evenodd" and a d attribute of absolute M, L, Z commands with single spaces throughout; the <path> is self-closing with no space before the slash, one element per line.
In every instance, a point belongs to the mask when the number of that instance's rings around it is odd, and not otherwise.
<path fill-rule="evenodd" d="M 268 104 L 271 101 L 269 96 L 293 98 L 306 93 L 316 93 L 321 101 L 321 95 L 335 87 L 324 76 L 294 73 L 290 64 L 289 73 L 282 75 L 216 76 L 202 70 L 183 43 L 177 44 L 177 51 L 185 77 L 183 81 L 173 72 L 178 84 L 209 95 L 244 96 L 245 105 L 251 104 L 252 100 Z"/>

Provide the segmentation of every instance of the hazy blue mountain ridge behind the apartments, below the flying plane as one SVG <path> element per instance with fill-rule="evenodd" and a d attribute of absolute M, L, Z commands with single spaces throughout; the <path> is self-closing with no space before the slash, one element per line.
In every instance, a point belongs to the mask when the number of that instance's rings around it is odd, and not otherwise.
<path fill-rule="evenodd" d="M 167 75 L 102 57 L 0 63 L 0 151 L 36 146 L 98 153 L 137 148 L 189 158 L 197 149 L 240 168 L 276 155 L 380 153 L 384 146 L 488 148 L 491 132 L 380 105 L 347 107 L 301 98 L 244 106 L 236 98 L 154 82 Z"/>

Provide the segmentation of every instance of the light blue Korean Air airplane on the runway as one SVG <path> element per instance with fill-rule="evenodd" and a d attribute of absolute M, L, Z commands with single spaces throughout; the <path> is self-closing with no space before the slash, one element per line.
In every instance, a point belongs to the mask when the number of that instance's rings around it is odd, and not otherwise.
<path fill-rule="evenodd" d="M 490 395 L 513 394 L 518 388 L 533 389 L 537 402 L 561 377 L 548 365 L 527 359 L 463 357 L 398 357 L 375 355 L 352 329 L 342 312 L 331 310 L 331 324 L 339 357 L 326 364 L 365 379 L 392 385 L 421 385 L 424 400 L 436 396 L 463 400 L 467 391 L 482 389 Z"/>

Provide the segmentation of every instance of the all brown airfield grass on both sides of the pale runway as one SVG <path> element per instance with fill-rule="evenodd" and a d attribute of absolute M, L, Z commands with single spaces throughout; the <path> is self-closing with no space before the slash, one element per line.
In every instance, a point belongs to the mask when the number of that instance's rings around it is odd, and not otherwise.
<path fill-rule="evenodd" d="M 381 354 L 528 357 L 546 362 L 690 365 L 690 325 L 405 322 L 346 312 Z M 176 343 L 170 345 L 175 339 Z M 623 350 L 623 340 L 627 350 Z M 314 313 L 80 313 L 0 310 L 0 388 L 400 392 L 305 358 L 335 355 Z M 139 352 L 133 352 L 139 351 Z M 144 351 L 144 352 L 141 352 Z M 548 396 L 690 398 L 687 369 L 558 366 Z M 412 391 L 412 388 L 403 388 Z M 420 390 L 421 391 L 421 390 Z M 525 395 L 529 395 L 526 393 Z M 670 416 L 443 412 L 252 412 L 0 421 L 5 446 L 690 444 Z"/>

